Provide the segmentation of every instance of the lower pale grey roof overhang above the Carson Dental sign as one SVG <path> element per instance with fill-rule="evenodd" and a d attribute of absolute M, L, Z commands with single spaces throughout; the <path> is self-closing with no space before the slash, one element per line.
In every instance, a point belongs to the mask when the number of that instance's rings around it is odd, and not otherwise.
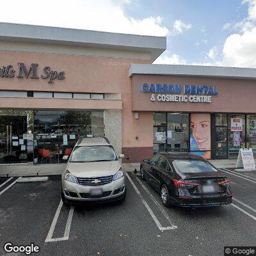
<path fill-rule="evenodd" d="M 160 76 L 222 77 L 230 79 L 256 79 L 256 68 L 211 67 L 192 65 L 132 64 L 129 76 L 134 74 Z"/>

